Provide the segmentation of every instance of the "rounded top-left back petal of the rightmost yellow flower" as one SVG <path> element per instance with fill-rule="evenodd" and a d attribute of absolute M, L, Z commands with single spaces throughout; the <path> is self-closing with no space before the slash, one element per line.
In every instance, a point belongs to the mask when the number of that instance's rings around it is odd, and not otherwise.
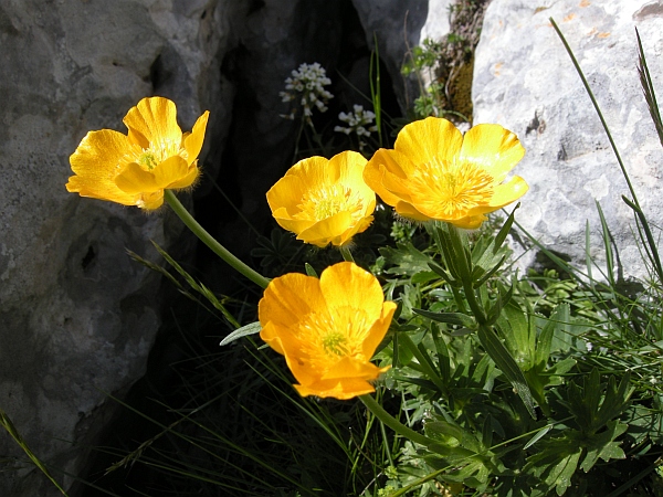
<path fill-rule="evenodd" d="M 463 135 L 446 119 L 427 117 L 404 126 L 393 148 L 415 165 L 433 159 L 452 160 L 461 150 Z"/>

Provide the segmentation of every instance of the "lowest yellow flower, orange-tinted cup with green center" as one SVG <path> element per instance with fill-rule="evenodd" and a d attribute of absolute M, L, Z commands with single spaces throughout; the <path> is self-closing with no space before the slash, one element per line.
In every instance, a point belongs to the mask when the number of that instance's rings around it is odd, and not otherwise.
<path fill-rule="evenodd" d="M 369 362 L 396 304 L 376 277 L 343 262 L 320 278 L 291 273 L 270 282 L 259 304 L 261 338 L 285 360 L 306 395 L 351 399 L 375 391 L 389 368 Z"/>

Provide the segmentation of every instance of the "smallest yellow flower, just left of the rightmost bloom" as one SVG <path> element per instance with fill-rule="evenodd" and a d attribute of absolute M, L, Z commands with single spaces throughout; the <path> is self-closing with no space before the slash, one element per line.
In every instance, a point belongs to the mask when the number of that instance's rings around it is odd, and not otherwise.
<path fill-rule="evenodd" d="M 267 192 L 272 215 L 297 240 L 345 245 L 373 219 L 376 194 L 361 177 L 366 162 L 354 151 L 301 160 Z"/>

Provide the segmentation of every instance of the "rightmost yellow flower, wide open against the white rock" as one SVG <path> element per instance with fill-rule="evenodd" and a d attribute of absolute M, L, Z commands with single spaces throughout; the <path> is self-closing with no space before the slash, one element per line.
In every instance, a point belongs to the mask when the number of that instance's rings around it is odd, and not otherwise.
<path fill-rule="evenodd" d="M 428 117 L 403 127 L 393 148 L 373 155 L 364 179 L 403 218 L 474 229 L 528 189 L 518 176 L 504 182 L 525 149 L 499 125 L 463 137 L 449 120 Z"/>

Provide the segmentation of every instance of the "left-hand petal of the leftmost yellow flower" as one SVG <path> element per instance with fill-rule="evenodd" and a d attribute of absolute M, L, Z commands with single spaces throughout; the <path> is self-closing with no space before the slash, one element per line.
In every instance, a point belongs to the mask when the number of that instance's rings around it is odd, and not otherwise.
<path fill-rule="evenodd" d="M 70 178 L 66 189 L 81 197 L 135 205 L 136 195 L 115 184 L 118 162 L 129 150 L 127 137 L 120 133 L 110 129 L 90 131 L 70 157 L 76 176 Z"/>

